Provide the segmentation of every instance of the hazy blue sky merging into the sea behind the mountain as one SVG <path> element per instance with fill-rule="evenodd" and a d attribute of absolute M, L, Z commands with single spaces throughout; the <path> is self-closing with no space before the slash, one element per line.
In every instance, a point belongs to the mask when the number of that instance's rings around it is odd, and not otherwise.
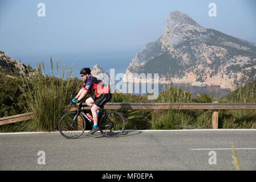
<path fill-rule="evenodd" d="M 46 16 L 37 15 L 38 3 Z M 208 15 L 216 3 L 217 16 Z M 0 50 L 34 65 L 63 63 L 127 67 L 144 46 L 157 40 L 170 11 L 188 14 L 206 28 L 256 44 L 256 1 L 66 1 L 0 0 Z M 85 61 L 85 63 L 84 63 Z"/>

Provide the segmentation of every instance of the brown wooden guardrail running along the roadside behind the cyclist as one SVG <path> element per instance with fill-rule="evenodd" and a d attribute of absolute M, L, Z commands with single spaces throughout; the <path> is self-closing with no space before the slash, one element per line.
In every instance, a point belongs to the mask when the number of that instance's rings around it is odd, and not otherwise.
<path fill-rule="evenodd" d="M 83 103 L 83 105 L 86 105 Z M 67 106 L 68 107 L 68 106 Z M 82 109 L 91 109 L 91 107 L 83 107 Z M 256 109 L 256 103 L 123 103 L 108 102 L 104 105 L 104 109 L 210 109 L 212 110 L 212 129 L 218 129 L 218 110 L 221 109 Z M 72 107 L 70 110 L 76 110 Z M 33 113 L 25 113 L 0 118 L 0 125 L 9 123 L 26 121 L 34 117 Z"/>

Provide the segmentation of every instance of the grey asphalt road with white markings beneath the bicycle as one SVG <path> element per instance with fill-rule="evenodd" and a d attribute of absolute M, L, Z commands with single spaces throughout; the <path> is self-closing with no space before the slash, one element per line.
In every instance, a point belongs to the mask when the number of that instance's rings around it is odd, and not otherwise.
<path fill-rule="evenodd" d="M 256 130 L 0 134 L 0 170 L 236 170 L 232 142 L 242 170 L 255 171 Z"/>

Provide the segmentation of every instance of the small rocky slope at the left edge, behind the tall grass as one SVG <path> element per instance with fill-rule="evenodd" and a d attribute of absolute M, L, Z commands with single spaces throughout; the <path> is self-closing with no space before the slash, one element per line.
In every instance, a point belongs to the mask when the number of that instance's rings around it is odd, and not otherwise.
<path fill-rule="evenodd" d="M 0 51 L 0 71 L 5 73 L 6 76 L 20 76 L 26 75 L 32 68 L 21 61 L 11 59 L 11 57 L 5 55 L 5 52 Z"/>

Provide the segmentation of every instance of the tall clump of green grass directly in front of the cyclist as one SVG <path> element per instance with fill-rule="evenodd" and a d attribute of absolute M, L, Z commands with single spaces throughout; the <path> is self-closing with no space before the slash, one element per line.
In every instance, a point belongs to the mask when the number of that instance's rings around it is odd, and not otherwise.
<path fill-rule="evenodd" d="M 37 69 L 38 73 L 23 77 L 23 82 L 29 90 L 21 88 L 26 96 L 28 110 L 35 114 L 28 130 L 55 131 L 58 130 L 60 117 L 66 112 L 64 106 L 68 105 L 69 100 L 78 92 L 80 84 L 77 78 L 72 77 L 72 66 L 65 78 L 63 65 L 60 75 L 59 62 L 57 63 L 58 77 L 54 77 L 52 58 L 50 76 L 45 74 L 43 63 L 39 64 Z"/>

